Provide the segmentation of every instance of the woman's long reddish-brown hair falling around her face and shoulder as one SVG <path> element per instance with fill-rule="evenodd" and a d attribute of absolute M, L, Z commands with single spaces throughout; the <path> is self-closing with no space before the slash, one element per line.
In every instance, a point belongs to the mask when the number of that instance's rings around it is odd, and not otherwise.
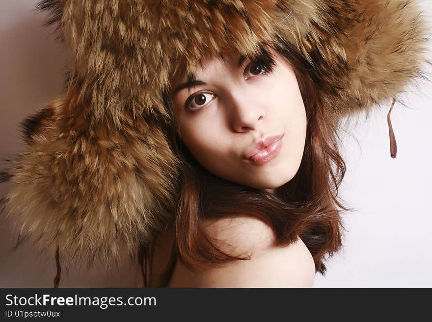
<path fill-rule="evenodd" d="M 292 46 L 275 48 L 291 64 L 302 95 L 307 116 L 306 142 L 300 167 L 292 180 L 275 190 L 246 187 L 219 178 L 204 169 L 182 145 L 175 126 L 167 127 L 173 150 L 182 161 L 180 186 L 175 216 L 175 240 L 171 259 L 159 287 L 168 285 L 176 259 L 196 272 L 208 266 L 232 260 L 247 260 L 227 254 L 211 241 L 202 225 L 203 218 L 216 219 L 248 215 L 267 223 L 274 231 L 276 245 L 287 246 L 301 238 L 315 262 L 316 272 L 324 275 L 324 260 L 342 247 L 342 211 L 351 211 L 338 197 L 346 166 L 338 142 L 337 118 L 323 109 L 316 82 L 317 71 Z M 172 102 L 165 95 L 165 105 Z M 167 110 L 171 109 L 167 107 Z M 144 286 L 147 272 L 143 261 L 153 262 L 154 244 L 142 249 L 138 260 L 143 272 Z M 144 264 L 146 265 L 146 264 Z M 146 266 L 144 266 L 146 267 Z M 151 280 L 150 271 L 150 280 Z"/>

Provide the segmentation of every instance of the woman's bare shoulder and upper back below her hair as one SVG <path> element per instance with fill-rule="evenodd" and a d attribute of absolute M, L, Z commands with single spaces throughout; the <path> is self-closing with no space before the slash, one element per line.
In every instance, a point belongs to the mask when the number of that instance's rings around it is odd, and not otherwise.
<path fill-rule="evenodd" d="M 315 264 L 301 239 L 276 247 L 273 230 L 251 217 L 208 221 L 203 226 L 216 246 L 234 255 L 251 255 L 196 274 L 179 266 L 171 287 L 310 287 Z"/>

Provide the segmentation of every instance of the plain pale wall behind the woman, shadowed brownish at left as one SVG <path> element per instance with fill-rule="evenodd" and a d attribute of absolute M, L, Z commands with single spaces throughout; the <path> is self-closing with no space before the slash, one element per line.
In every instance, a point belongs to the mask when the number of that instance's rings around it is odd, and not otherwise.
<path fill-rule="evenodd" d="M 62 90 L 68 52 L 55 41 L 54 28 L 42 26 L 47 14 L 33 11 L 36 2 L 0 1 L 1 159 L 23 147 L 19 122 Z M 421 3 L 426 16 L 432 16 L 432 1 Z M 426 82 L 410 88 L 403 97 L 408 108 L 396 104 L 393 109 L 396 159 L 389 152 L 388 106 L 349 127 L 352 136 L 343 136 L 347 173 L 340 196 L 357 211 L 344 216 L 344 248 L 327 261 L 325 277 L 316 275 L 315 287 L 432 286 L 431 88 Z M 8 186 L 0 185 L 0 196 Z M 11 253 L 11 227 L 4 214 L 0 239 L 0 287 L 53 285 L 54 254 L 40 255 L 32 245 Z M 136 267 L 121 262 L 109 272 L 63 271 L 60 286 L 134 286 Z"/>

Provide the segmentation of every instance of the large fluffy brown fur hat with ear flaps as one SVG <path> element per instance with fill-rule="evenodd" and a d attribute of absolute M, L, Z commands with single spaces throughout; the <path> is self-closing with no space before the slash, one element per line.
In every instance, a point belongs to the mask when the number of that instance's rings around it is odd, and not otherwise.
<path fill-rule="evenodd" d="M 427 34 L 412 0 L 43 0 L 72 50 L 64 91 L 22 123 L 1 174 L 20 237 L 65 259 L 133 257 L 174 221 L 179 161 L 162 93 L 224 50 L 294 46 L 335 118 L 396 99 L 422 76 Z M 183 64 L 183 65 L 182 65 Z M 393 100 L 394 103 L 394 100 Z M 395 156 L 395 151 L 393 151 Z"/>

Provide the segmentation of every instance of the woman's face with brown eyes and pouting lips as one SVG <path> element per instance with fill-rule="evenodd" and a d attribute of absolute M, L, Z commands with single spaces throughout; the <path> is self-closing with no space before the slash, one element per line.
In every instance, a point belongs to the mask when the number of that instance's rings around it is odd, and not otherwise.
<path fill-rule="evenodd" d="M 204 168 L 225 180 L 274 192 L 298 171 L 306 112 L 288 61 L 266 50 L 274 64 L 266 56 L 254 62 L 245 58 L 243 64 L 240 55 L 224 56 L 225 62 L 214 58 L 196 69 L 189 84 L 186 77 L 174 81 L 171 95 L 180 138 Z M 264 140 L 259 151 L 253 148 L 269 136 L 282 138 L 267 148 Z"/>

